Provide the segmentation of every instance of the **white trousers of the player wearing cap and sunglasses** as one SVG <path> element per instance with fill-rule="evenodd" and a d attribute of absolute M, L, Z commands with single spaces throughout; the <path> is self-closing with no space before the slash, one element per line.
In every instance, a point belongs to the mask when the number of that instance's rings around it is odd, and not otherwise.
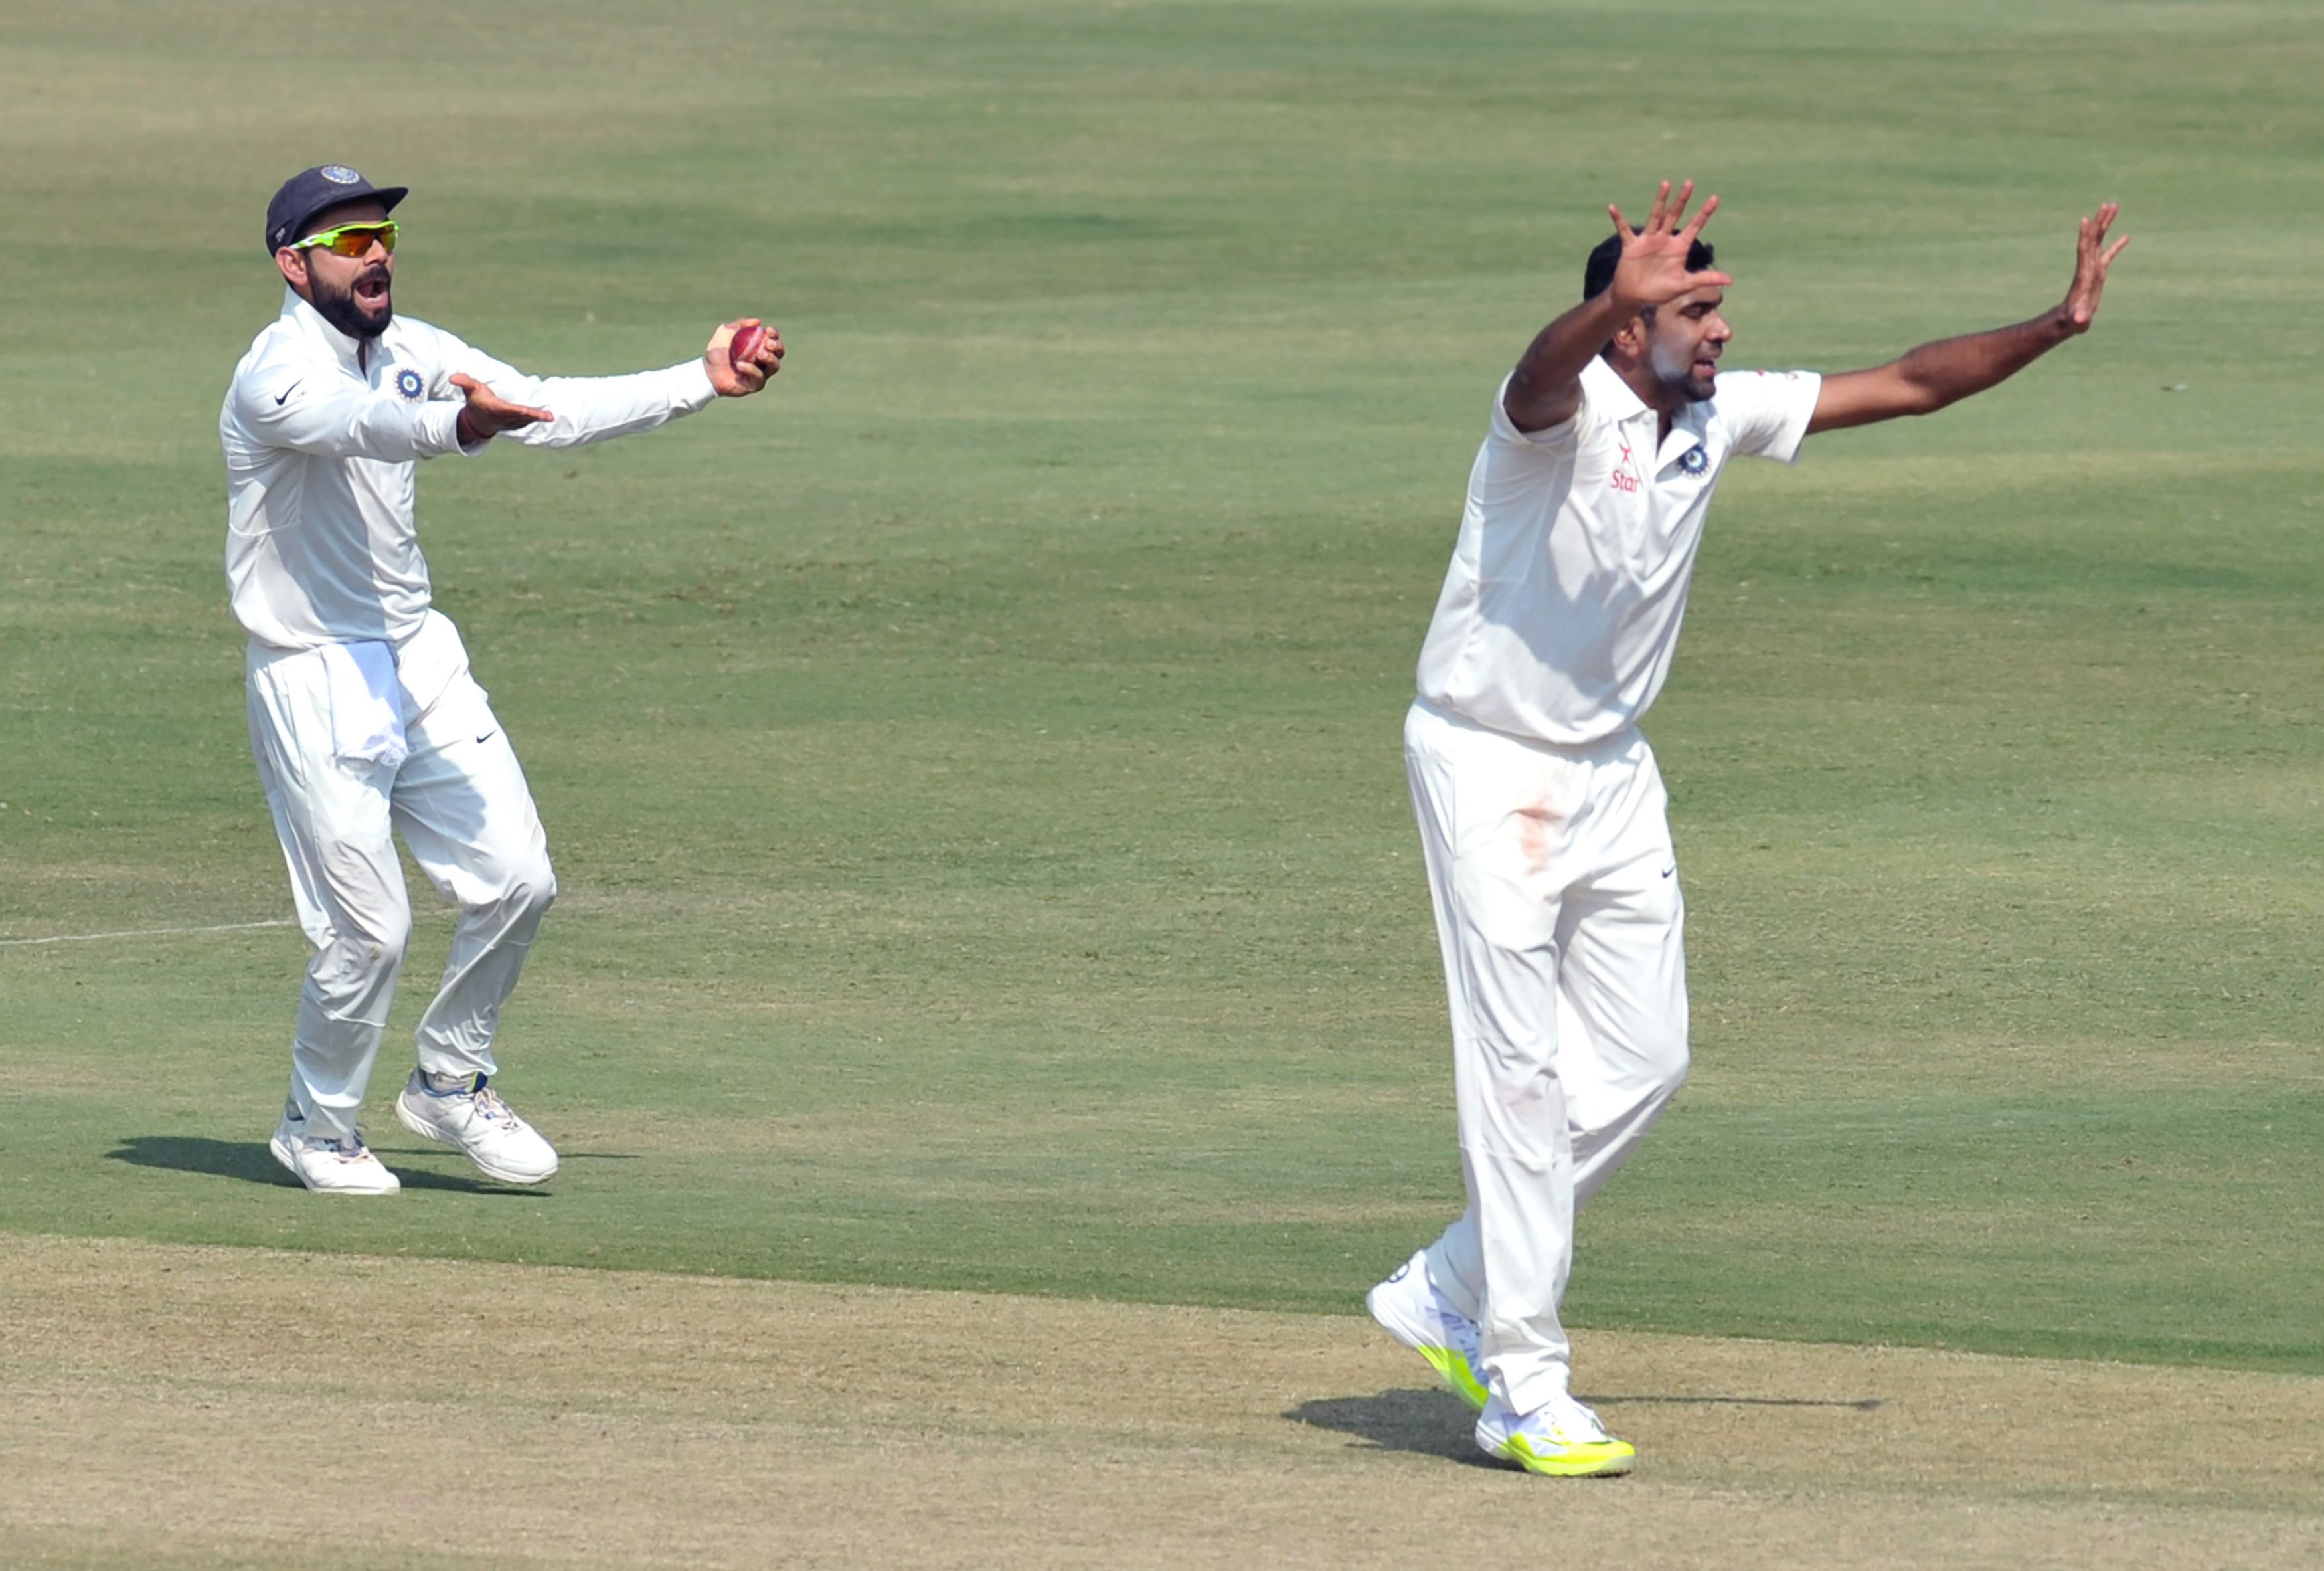
<path fill-rule="evenodd" d="M 411 902 L 395 858 L 411 858 L 460 906 L 444 981 L 418 1025 L 432 1074 L 497 1074 L 493 1030 L 525 951 L 555 899 L 548 837 L 516 751 L 439 614 L 397 653 L 409 758 L 337 758 L 316 651 L 251 644 L 249 711 L 258 783 L 314 946 L 290 1043 L 290 1099 L 309 1132 L 344 1139 L 386 1034 Z M 423 658 L 421 658 L 423 655 Z M 425 676 L 414 672 L 425 669 Z"/>

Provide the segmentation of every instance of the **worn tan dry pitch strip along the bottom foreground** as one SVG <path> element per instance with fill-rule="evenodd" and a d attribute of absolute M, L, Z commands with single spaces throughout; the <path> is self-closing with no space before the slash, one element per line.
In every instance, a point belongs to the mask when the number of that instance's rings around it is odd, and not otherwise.
<path fill-rule="evenodd" d="M 1624 1480 L 1355 1318 L 0 1241 L 0 1550 L 112 1566 L 2324 1559 L 2324 1380 L 1597 1332 Z"/>

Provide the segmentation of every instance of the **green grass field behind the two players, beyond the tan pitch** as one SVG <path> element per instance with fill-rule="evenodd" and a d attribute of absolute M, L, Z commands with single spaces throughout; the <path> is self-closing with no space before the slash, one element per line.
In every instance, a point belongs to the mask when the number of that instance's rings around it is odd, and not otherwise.
<path fill-rule="evenodd" d="M 12 5 L 0 1229 L 1348 1313 L 1457 1206 L 1399 723 L 1497 376 L 1606 200 L 1724 195 L 1731 363 L 2099 330 L 1736 472 L 1650 718 L 1697 1076 L 1573 1320 L 2324 1373 L 2310 5 Z M 565 899 L 567 1153 L 265 1155 L 304 946 L 216 407 L 267 193 L 409 181 L 532 370 L 762 400 L 430 465 Z M 425 890 L 418 895 L 425 906 Z"/>

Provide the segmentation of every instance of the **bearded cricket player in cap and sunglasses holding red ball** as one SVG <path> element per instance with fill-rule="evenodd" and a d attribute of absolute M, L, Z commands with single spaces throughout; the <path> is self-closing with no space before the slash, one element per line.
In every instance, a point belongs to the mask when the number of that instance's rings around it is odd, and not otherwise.
<path fill-rule="evenodd" d="M 314 946 L 270 1148 L 330 1195 L 400 1188 L 356 1129 L 411 932 L 395 830 L 460 906 L 395 1113 L 502 1183 L 558 1169 L 490 1085 L 500 1006 L 558 883 L 509 737 L 458 630 L 428 604 L 411 528 L 418 460 L 481 453 L 495 437 L 579 446 L 653 430 L 755 393 L 783 356 L 746 318 L 669 370 L 525 376 L 395 316 L 388 214 L 404 193 L 346 165 L 284 181 L 265 235 L 281 316 L 235 367 L 218 416 L 225 581 L 251 634 L 251 751 Z"/>

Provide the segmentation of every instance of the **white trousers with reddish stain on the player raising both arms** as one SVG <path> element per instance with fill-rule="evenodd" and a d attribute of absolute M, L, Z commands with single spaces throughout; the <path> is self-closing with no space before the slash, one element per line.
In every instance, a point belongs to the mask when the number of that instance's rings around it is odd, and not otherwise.
<path fill-rule="evenodd" d="M 1404 723 L 1452 1006 L 1469 1208 L 1429 1281 L 1483 1332 L 1518 1413 L 1566 1390 L 1573 1211 L 1687 1078 L 1685 904 L 1636 727 L 1587 748 L 1432 704 Z"/>

